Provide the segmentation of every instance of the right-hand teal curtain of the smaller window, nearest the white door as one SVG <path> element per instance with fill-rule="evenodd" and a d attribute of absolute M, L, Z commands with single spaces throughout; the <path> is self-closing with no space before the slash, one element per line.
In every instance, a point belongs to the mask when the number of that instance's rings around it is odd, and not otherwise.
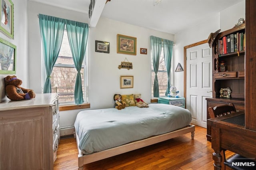
<path fill-rule="evenodd" d="M 165 95 L 167 96 L 170 92 L 170 73 L 171 73 L 171 67 L 172 67 L 172 49 L 173 49 L 173 41 L 170 40 L 163 40 L 164 44 L 164 61 L 167 71 L 167 88 Z"/>

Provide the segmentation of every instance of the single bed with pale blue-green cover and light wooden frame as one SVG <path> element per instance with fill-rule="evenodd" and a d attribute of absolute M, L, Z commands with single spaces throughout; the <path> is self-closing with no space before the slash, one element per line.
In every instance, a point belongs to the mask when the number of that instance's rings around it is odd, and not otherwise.
<path fill-rule="evenodd" d="M 187 109 L 149 104 L 122 110 L 115 108 L 80 111 L 74 124 L 78 169 L 84 164 L 149 146 L 191 132 L 194 125 Z"/>

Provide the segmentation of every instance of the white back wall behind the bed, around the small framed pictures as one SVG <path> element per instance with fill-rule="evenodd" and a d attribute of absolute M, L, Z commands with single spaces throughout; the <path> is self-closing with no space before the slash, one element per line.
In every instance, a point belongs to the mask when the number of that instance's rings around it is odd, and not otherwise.
<path fill-rule="evenodd" d="M 88 15 L 80 12 L 73 12 L 53 6 L 28 2 L 28 30 L 29 30 L 29 70 L 33 72 L 30 77 L 30 88 L 36 93 L 41 93 L 42 75 L 41 41 L 40 28 L 37 14 L 46 14 L 86 22 Z M 126 55 L 116 52 L 117 34 L 137 38 L 137 55 Z M 141 93 L 142 99 L 150 103 L 151 99 L 151 52 L 150 36 L 157 36 L 167 40 L 174 40 L 173 34 L 132 26 L 106 18 L 100 18 L 96 28 L 89 29 L 88 40 L 88 71 L 89 84 L 88 96 L 90 109 L 110 108 L 114 106 L 114 94 L 135 94 Z M 110 42 L 110 53 L 95 52 L 95 40 Z M 140 54 L 140 48 L 147 48 L 148 54 Z M 121 61 L 127 58 L 132 62 L 133 69 L 118 69 Z M 32 64 L 36 63 L 36 64 Z M 120 75 L 133 75 L 134 88 L 120 89 Z M 35 81 L 36 79 L 36 81 Z M 62 111 L 60 113 L 60 126 L 68 127 L 74 125 L 75 111 Z"/>

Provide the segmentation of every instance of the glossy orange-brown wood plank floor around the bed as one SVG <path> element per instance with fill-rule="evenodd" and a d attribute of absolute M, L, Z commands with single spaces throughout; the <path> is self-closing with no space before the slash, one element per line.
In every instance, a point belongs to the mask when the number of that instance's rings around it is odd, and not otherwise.
<path fill-rule="evenodd" d="M 206 140 L 206 128 L 196 126 L 191 134 L 153 144 L 118 156 L 84 165 L 84 170 L 213 170 L 213 150 Z M 226 151 L 226 156 L 232 152 Z M 76 170 L 78 152 L 75 138 L 61 139 L 54 170 Z"/>

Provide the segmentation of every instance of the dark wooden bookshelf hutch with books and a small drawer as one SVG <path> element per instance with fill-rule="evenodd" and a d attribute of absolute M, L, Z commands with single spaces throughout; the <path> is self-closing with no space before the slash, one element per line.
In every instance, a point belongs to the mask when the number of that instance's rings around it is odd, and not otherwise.
<path fill-rule="evenodd" d="M 220 98 L 221 89 L 229 87 L 232 91 L 231 98 L 244 100 L 244 35 L 245 24 L 242 24 L 230 30 L 220 32 L 212 44 L 212 97 L 216 99 Z M 230 37 L 233 40 L 232 42 Z M 224 53 L 223 42 L 225 40 L 228 49 Z"/>

